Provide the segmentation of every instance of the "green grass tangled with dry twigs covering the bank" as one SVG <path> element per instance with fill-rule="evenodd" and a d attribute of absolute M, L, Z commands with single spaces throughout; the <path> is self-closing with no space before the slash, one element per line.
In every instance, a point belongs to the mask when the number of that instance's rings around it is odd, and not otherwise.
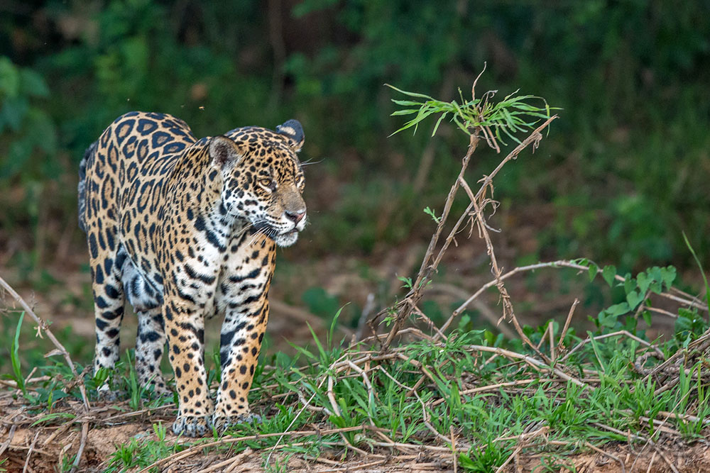
<path fill-rule="evenodd" d="M 694 345 L 685 343 L 681 333 L 655 345 L 667 358 L 682 352 L 688 360 L 685 369 L 670 377 L 674 382 L 670 389 L 663 388 L 667 384 L 658 376 L 633 369 L 648 347 L 626 336 L 599 338 L 601 332 L 589 333 L 584 340 L 565 337 L 557 360 L 543 363 L 543 369 L 510 355 L 518 350 L 518 355 L 535 357 L 533 350 L 520 350 L 514 341 L 499 338 L 491 345 L 488 340 L 496 337 L 485 330 L 454 330 L 437 343 L 423 333 L 410 333 L 386 356 L 379 355 L 374 340 L 346 346 L 330 337 L 330 343 L 314 338 L 310 347 L 299 347 L 297 357 L 272 357 L 256 373 L 250 401 L 265 415 L 263 423 L 240 425 L 223 437 L 200 440 L 176 440 L 167 435 L 165 423 L 154 423 L 151 435 L 116 445 L 105 467 L 109 472 L 151 467 L 190 447 L 210 444 L 201 451 L 222 456 L 247 448 L 264 455 L 274 450 L 310 458 L 327 450 L 376 453 L 388 445 L 395 451 L 397 446 L 422 448 L 433 457 L 450 458 L 454 451 L 466 471 L 501 467 L 521 447 L 525 454 L 542 455 L 541 465 L 571 468 L 574 454 L 591 450 L 589 445 L 645 445 L 668 439 L 692 443 L 704 438 L 710 422 L 707 355 L 696 350 L 710 340 L 705 328 L 694 333 Z M 559 361 L 562 353 L 572 350 L 567 360 Z M 553 356 L 545 345 L 542 351 Z M 559 379 L 550 371 L 552 366 L 583 385 Z M 213 384 L 218 384 L 214 367 L 212 371 Z M 28 405 L 33 424 L 80 421 L 80 414 L 67 404 L 80 399 L 75 390 L 48 399 L 60 387 L 55 379 L 65 377 L 66 383 L 69 373 L 61 364 L 37 370 L 36 376 L 53 380 L 26 386 L 29 394 L 18 397 Z M 128 411 L 160 406 L 137 387 L 129 354 L 112 379 L 114 387 L 126 391 L 128 401 L 121 405 L 127 404 Z M 84 377 L 89 389 L 100 381 Z M 4 393 L 8 394 L 11 391 Z M 312 425 L 322 432 L 309 433 Z M 97 420 L 93 428 L 101 426 Z M 272 460 L 271 468 L 283 467 L 278 463 L 283 458 Z"/>

